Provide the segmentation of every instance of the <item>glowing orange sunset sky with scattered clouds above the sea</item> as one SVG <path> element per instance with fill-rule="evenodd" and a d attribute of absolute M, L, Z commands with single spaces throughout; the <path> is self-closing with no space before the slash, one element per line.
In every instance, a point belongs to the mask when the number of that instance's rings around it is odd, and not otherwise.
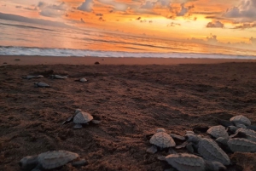
<path fill-rule="evenodd" d="M 256 0 L 2 0 L 0 12 L 79 28 L 256 46 Z"/>

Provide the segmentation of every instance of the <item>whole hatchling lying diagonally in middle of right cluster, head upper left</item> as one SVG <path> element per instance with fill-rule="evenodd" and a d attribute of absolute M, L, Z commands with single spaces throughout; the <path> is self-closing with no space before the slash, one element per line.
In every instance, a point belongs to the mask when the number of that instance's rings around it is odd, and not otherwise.
<path fill-rule="evenodd" d="M 187 149 L 190 152 L 193 153 L 195 148 L 201 157 L 207 161 L 221 162 L 224 165 L 230 165 L 230 158 L 214 140 L 202 138 L 196 134 L 186 134 L 185 138 L 189 143 Z"/>

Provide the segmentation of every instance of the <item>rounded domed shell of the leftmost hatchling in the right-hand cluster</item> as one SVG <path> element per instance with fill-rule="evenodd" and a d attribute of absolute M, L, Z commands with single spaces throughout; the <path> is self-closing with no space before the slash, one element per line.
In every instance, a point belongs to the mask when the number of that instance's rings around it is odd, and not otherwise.
<path fill-rule="evenodd" d="M 160 148 L 168 148 L 176 145 L 172 137 L 165 132 L 154 134 L 149 142 L 153 145 L 159 146 Z"/>

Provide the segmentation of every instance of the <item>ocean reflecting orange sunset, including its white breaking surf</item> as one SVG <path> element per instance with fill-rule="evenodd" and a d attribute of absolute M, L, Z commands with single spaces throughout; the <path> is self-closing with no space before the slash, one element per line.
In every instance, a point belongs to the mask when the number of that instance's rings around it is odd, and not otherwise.
<path fill-rule="evenodd" d="M 0 55 L 256 59 L 256 50 L 0 20 Z"/>

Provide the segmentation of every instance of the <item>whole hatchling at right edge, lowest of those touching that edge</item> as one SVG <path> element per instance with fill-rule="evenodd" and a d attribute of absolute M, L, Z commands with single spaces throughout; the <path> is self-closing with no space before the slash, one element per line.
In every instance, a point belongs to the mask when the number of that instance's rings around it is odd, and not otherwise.
<path fill-rule="evenodd" d="M 226 151 L 256 152 L 256 142 L 253 142 L 252 140 L 243 138 L 224 139 L 223 137 L 219 137 L 216 141 L 218 144 L 224 146 Z"/>

